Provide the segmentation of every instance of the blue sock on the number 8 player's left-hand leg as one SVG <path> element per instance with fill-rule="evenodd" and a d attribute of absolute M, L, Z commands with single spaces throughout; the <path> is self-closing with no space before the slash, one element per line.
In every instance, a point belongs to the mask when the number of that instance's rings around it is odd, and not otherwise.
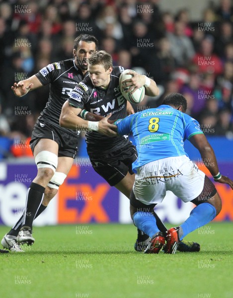
<path fill-rule="evenodd" d="M 133 221 L 141 231 L 144 231 L 150 237 L 159 231 L 155 217 L 151 212 L 136 212 L 133 215 Z"/>

